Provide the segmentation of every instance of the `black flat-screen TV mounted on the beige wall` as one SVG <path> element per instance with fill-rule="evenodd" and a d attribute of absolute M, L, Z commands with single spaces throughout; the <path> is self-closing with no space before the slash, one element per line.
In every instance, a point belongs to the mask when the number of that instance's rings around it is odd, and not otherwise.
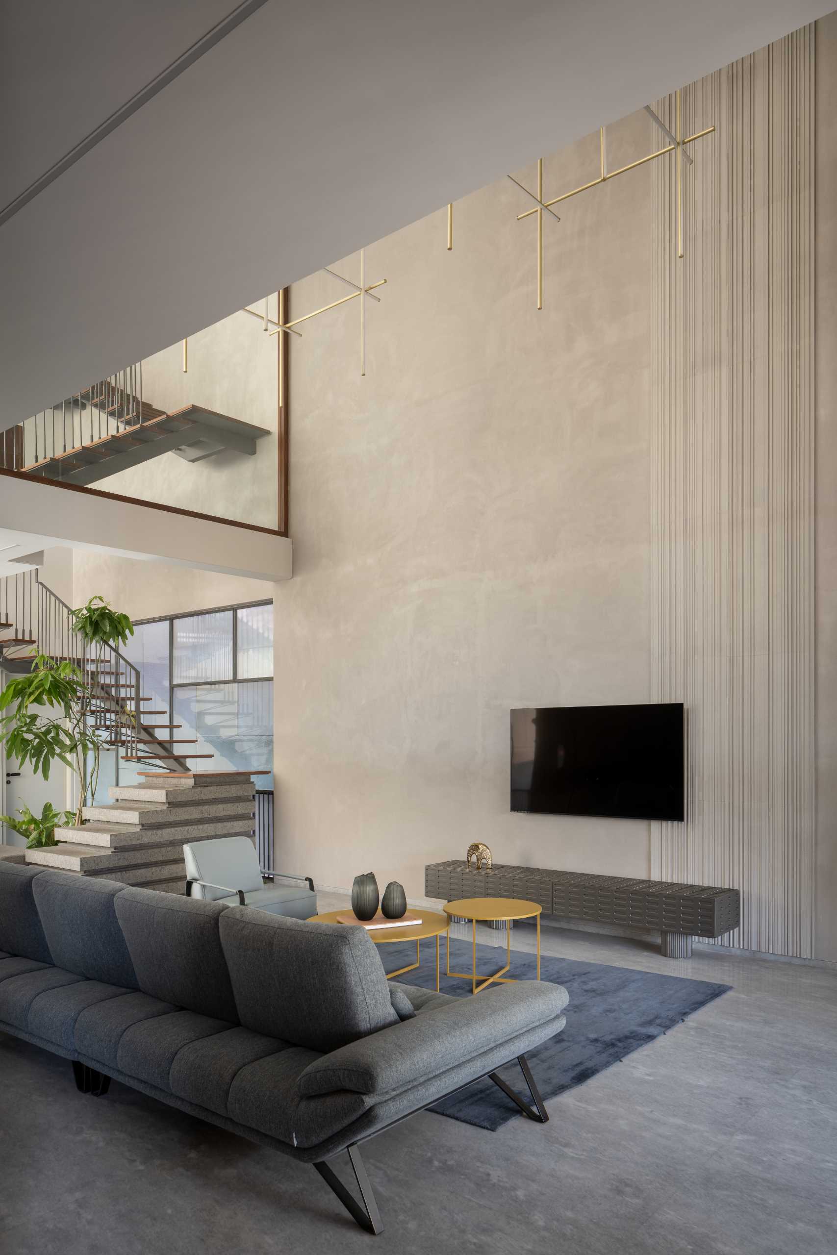
<path fill-rule="evenodd" d="M 512 710 L 512 811 L 684 818 L 683 703 Z"/>

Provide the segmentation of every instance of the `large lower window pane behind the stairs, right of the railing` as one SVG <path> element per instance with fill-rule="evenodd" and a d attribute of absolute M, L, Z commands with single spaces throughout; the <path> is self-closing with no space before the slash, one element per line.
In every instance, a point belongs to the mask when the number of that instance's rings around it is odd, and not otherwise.
<path fill-rule="evenodd" d="M 272 789 L 274 777 L 274 681 L 206 684 L 174 689 L 174 722 L 183 728 L 178 737 L 197 737 L 189 753 L 213 753 L 202 759 L 202 771 L 269 771 L 256 787 Z"/>

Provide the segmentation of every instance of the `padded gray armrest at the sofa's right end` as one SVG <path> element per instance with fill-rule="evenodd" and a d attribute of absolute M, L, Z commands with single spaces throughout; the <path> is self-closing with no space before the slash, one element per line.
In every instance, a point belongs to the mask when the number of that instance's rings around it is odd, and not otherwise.
<path fill-rule="evenodd" d="M 339 1089 L 397 1093 L 540 1024 L 551 1025 L 568 998 L 562 985 L 527 980 L 419 1012 L 309 1063 L 297 1081 L 300 1097 Z"/>

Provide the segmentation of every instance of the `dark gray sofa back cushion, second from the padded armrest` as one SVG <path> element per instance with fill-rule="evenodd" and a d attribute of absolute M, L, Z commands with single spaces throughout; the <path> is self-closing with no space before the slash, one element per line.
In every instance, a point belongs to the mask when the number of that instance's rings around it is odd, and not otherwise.
<path fill-rule="evenodd" d="M 218 920 L 228 907 L 153 889 L 125 889 L 114 904 L 144 994 L 238 1023 L 218 939 Z"/>

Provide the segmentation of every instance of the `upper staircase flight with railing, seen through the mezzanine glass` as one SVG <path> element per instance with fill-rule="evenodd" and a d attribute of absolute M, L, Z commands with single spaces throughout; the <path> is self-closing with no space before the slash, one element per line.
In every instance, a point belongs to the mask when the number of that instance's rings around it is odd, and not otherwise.
<path fill-rule="evenodd" d="M 88 486 L 162 453 L 187 462 L 222 449 L 252 456 L 265 435 L 264 427 L 203 405 L 158 409 L 143 400 L 137 363 L 0 433 L 0 467 Z"/>

